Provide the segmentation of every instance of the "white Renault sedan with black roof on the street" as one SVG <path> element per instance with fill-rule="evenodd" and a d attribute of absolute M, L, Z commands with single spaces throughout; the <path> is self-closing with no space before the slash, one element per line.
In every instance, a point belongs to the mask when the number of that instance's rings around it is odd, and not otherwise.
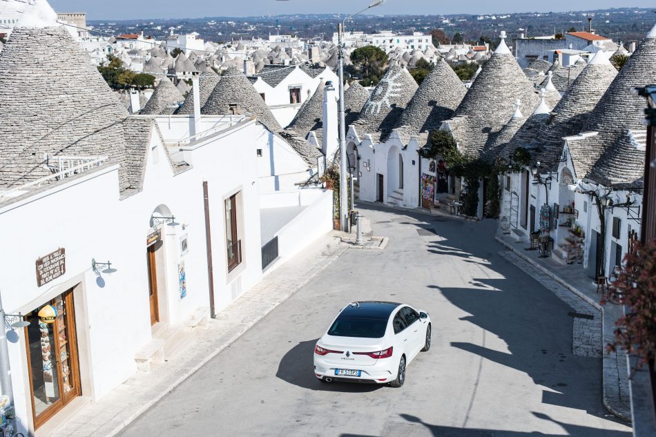
<path fill-rule="evenodd" d="M 323 382 L 376 382 L 401 387 L 405 368 L 430 349 L 430 316 L 395 302 L 351 302 L 314 347 Z"/>

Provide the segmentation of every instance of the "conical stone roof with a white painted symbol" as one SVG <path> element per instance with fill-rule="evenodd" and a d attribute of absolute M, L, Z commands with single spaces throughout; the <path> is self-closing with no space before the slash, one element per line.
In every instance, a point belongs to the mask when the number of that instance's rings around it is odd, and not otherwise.
<path fill-rule="evenodd" d="M 405 68 L 389 67 L 360 110 L 360 117 L 354 123 L 358 126 L 358 132 L 392 132 L 417 88 L 416 81 Z"/>

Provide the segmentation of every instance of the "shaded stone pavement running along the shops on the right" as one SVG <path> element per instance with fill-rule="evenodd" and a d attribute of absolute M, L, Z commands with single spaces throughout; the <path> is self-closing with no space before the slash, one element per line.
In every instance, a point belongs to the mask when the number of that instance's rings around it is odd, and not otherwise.
<path fill-rule="evenodd" d="M 551 258 L 537 258 L 535 252 L 525 251 L 528 243 L 516 242 L 510 235 L 496 235 L 496 241 L 510 249 L 525 262 L 539 269 L 561 286 L 574 293 L 595 309 L 601 311 L 601 351 L 602 351 L 602 385 L 604 391 L 604 406 L 615 416 L 631 421 L 630 391 L 628 384 L 628 365 L 626 351 L 606 351 L 606 344 L 615 339 L 615 322 L 623 315 L 621 306 L 606 303 L 603 307 L 599 302 L 601 294 L 597 286 L 583 272 L 580 264 L 563 266 Z M 567 302 L 567 301 L 566 301 Z M 569 303 L 569 302 L 568 302 Z M 571 306 L 571 305 L 570 305 Z M 585 329 L 585 324 L 579 322 L 579 332 Z M 595 336 L 597 333 L 595 333 Z"/>

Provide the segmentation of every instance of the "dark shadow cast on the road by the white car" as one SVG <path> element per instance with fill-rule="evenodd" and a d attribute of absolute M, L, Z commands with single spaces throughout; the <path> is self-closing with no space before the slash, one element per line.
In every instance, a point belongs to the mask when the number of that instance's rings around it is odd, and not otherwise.
<path fill-rule="evenodd" d="M 349 384 L 347 382 L 321 382 L 312 373 L 312 356 L 318 339 L 300 342 L 284 354 L 276 377 L 289 384 L 310 390 L 340 391 L 343 393 L 367 393 L 382 388 L 380 384 Z"/>

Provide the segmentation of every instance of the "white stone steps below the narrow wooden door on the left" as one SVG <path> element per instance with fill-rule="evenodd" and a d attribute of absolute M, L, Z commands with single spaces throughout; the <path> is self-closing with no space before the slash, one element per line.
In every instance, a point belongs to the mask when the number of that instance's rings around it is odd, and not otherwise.
<path fill-rule="evenodd" d="M 166 362 L 177 353 L 181 353 L 199 329 L 206 329 L 206 309 L 198 309 L 191 318 L 181 326 L 169 327 L 158 323 L 153 326 L 153 337 L 142 349 L 135 353 L 135 362 L 139 371 L 150 371 L 151 363 Z"/>

